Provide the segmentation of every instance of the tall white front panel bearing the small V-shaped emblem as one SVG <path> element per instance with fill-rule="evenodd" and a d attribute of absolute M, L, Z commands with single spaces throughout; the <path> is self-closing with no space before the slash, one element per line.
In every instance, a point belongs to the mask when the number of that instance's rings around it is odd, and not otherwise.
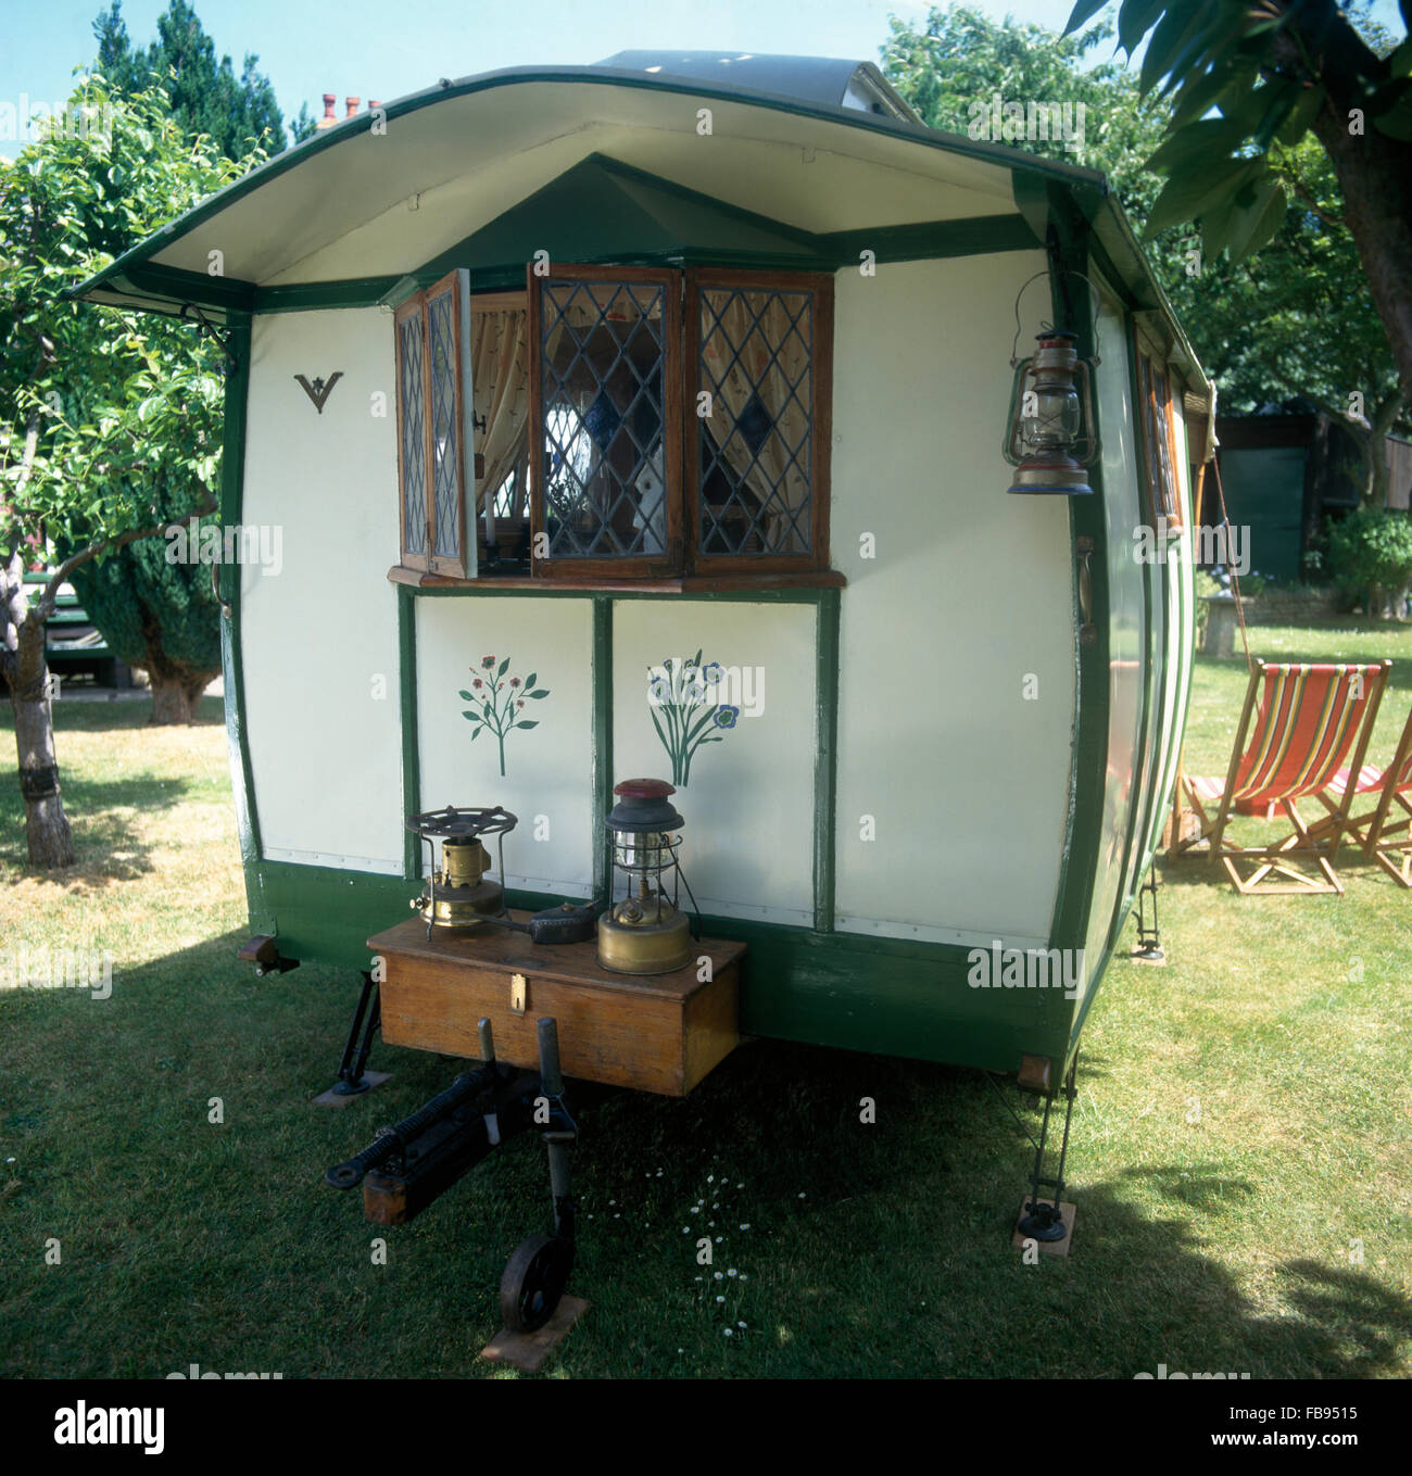
<path fill-rule="evenodd" d="M 335 370 L 320 415 L 294 376 Z M 400 872 L 397 444 L 375 391 L 392 391 L 390 313 L 255 320 L 242 518 L 282 567 L 242 568 L 242 660 L 264 853 Z"/>

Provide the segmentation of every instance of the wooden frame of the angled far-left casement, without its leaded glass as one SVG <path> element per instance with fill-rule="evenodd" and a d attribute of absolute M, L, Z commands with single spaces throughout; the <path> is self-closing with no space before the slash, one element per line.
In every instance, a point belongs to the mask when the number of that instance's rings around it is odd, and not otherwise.
<path fill-rule="evenodd" d="M 451 356 L 451 372 L 454 382 L 451 387 L 451 413 L 456 431 L 456 552 L 451 555 L 437 554 L 437 474 L 435 474 L 435 396 L 432 390 L 431 363 L 431 307 L 434 301 L 450 294 L 451 297 L 451 334 L 454 353 Z M 438 282 L 421 292 L 413 292 L 392 314 L 392 329 L 395 342 L 397 368 L 397 545 L 401 567 L 419 570 L 425 574 L 444 576 L 451 579 L 471 579 L 475 576 L 475 539 L 471 536 L 469 524 L 474 521 L 475 509 L 475 475 L 474 468 L 468 475 L 468 461 L 472 447 L 471 415 L 465 394 L 466 353 L 469 347 L 469 273 L 462 270 L 449 272 Z M 409 554 L 406 548 L 407 533 L 407 477 L 406 477 L 406 438 L 403 435 L 403 421 L 406 406 L 403 404 L 403 323 L 413 316 L 422 320 L 422 480 L 425 484 L 426 506 L 423 512 L 423 527 L 426 530 L 425 554 Z"/>

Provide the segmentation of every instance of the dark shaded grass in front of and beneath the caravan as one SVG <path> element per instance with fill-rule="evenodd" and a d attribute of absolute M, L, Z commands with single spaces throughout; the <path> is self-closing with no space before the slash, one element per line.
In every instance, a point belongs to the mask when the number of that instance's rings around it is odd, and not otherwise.
<path fill-rule="evenodd" d="M 326 1190 L 322 1170 L 456 1067 L 379 1042 L 370 1064 L 394 1073 L 387 1088 L 344 1111 L 307 1106 L 332 1079 L 359 979 L 319 965 L 255 979 L 233 958 L 242 936 L 122 971 L 108 1002 L 0 999 L 0 1049 L 16 1067 L 0 1122 L 21 1182 L 0 1240 L 71 1224 L 87 1247 L 62 1277 L 15 1258 L 0 1290 L 4 1365 L 152 1376 L 199 1348 L 202 1364 L 286 1377 L 484 1373 L 475 1349 L 496 1327 L 500 1269 L 546 1228 L 543 1150 L 527 1139 L 494 1154 L 387 1232 L 395 1277 L 369 1272 L 357 1196 Z M 1080 1088 L 1104 1066 L 1080 1067 Z M 212 1094 L 226 1119 L 207 1131 Z M 1269 1244 L 1276 1312 L 1211 1253 L 1275 1193 L 1259 1173 L 1146 1163 L 1087 1182 L 1089 1145 L 1112 1131 L 1095 1110 L 1082 1094 L 1073 1255 L 1025 1265 L 1009 1234 L 1030 1150 L 980 1073 L 755 1041 L 691 1097 L 584 1101 L 572 1290 L 593 1314 L 552 1367 L 1107 1379 L 1161 1364 L 1253 1377 L 1397 1367 L 1409 1308 L 1371 1275 Z M 1033 1111 L 1021 1117 L 1037 1129 Z M 726 1364 L 702 1232 L 723 1237 L 719 1266 L 750 1272 L 730 1314 L 750 1334 Z"/>

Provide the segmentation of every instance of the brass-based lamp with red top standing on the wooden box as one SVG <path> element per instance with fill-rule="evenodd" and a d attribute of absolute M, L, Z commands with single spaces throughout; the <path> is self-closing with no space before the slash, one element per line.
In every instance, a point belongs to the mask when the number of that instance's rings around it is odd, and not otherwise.
<path fill-rule="evenodd" d="M 598 920 L 598 961 L 615 974 L 668 974 L 692 956 L 691 927 L 677 911 L 682 816 L 665 779 L 624 779 L 608 815 L 612 863 L 627 875 L 627 896 Z M 667 896 L 667 884 L 671 897 Z M 615 890 L 615 889 L 614 889 Z"/>

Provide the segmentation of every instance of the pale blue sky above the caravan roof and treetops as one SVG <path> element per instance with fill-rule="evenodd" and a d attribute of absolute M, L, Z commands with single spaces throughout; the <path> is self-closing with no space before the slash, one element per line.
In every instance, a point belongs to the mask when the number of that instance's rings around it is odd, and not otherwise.
<path fill-rule="evenodd" d="M 193 0 L 217 55 L 236 71 L 246 52 L 274 83 L 286 117 L 322 94 L 391 100 L 438 77 L 465 77 L 533 62 L 583 65 L 627 47 L 741 49 L 851 56 L 876 61 L 888 15 L 921 19 L 910 0 Z M 1068 0 L 971 0 L 1062 30 Z M 93 18 L 106 0 L 0 0 L 0 103 L 21 97 L 62 100 L 72 69 L 94 53 Z M 167 0 L 127 0 L 122 15 L 134 43 L 156 35 Z M 1402 34 L 1393 0 L 1378 18 Z M 19 143 L 0 140 L 13 158 Z"/>

